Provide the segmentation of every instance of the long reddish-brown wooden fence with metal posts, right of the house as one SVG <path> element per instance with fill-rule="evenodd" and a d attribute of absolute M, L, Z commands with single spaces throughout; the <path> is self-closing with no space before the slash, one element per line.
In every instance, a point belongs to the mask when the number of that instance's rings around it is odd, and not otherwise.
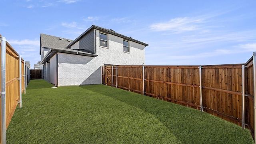
<path fill-rule="evenodd" d="M 203 110 L 254 137 L 252 58 L 212 66 L 102 66 L 102 84 Z"/>

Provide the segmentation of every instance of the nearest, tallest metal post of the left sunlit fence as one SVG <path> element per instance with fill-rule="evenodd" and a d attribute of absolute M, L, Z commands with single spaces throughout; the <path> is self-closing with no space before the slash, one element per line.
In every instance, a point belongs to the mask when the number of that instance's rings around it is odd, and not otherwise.
<path fill-rule="evenodd" d="M 6 38 L 1 37 L 1 143 L 6 144 Z"/>

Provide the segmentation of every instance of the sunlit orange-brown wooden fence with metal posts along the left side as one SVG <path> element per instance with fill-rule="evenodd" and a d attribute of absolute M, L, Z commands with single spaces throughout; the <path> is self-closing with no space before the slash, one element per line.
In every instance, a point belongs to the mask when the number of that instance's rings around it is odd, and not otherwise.
<path fill-rule="evenodd" d="M 6 143 L 6 129 L 16 106 L 22 107 L 22 92 L 26 93 L 28 66 L 20 55 L 0 35 L 1 49 L 1 144 Z"/>

